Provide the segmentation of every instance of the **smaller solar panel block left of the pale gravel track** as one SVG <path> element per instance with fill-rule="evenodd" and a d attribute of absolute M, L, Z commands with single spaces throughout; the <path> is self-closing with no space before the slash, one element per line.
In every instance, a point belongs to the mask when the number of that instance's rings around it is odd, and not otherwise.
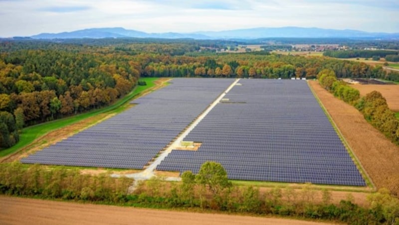
<path fill-rule="evenodd" d="M 21 160 L 23 163 L 142 169 L 231 83 L 174 79 L 139 104 Z"/>

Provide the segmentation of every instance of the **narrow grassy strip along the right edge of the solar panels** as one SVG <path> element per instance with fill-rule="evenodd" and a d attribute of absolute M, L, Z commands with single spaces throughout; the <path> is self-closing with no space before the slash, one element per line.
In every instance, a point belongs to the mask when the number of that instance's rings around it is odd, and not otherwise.
<path fill-rule="evenodd" d="M 319 103 L 320 107 L 322 108 L 322 110 L 326 114 L 327 118 L 330 120 L 331 125 L 334 127 L 334 129 L 337 132 L 338 136 L 340 137 L 342 143 L 344 144 L 345 148 L 347 149 L 349 155 L 354 160 L 354 163 L 355 163 L 356 167 L 358 167 L 359 172 L 362 174 L 363 178 L 365 179 L 366 185 L 371 187 L 371 188 L 373 188 L 373 189 L 376 189 L 376 186 L 375 186 L 373 180 L 370 178 L 369 174 L 367 173 L 367 171 L 363 167 L 363 165 L 360 162 L 360 160 L 357 157 L 357 155 L 353 152 L 351 146 L 349 145 L 348 141 L 345 139 L 344 135 L 342 134 L 341 130 L 339 129 L 339 127 L 335 123 L 334 119 L 331 117 L 330 113 L 324 107 L 323 103 L 321 102 L 321 100 L 317 96 L 316 92 L 313 90 L 312 86 L 309 85 L 309 82 L 306 82 L 306 83 L 307 83 L 310 91 L 313 93 L 313 96 L 315 97 L 316 101 Z"/>

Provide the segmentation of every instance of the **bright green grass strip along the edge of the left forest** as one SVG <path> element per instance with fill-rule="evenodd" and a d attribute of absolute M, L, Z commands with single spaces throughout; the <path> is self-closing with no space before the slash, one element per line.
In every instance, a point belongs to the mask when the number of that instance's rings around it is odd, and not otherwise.
<path fill-rule="evenodd" d="M 141 78 L 140 80 L 143 80 L 147 83 L 146 86 L 136 86 L 135 89 L 133 89 L 132 92 L 130 92 L 128 95 L 123 97 L 122 99 L 118 100 L 115 104 L 98 109 L 98 110 L 92 110 L 90 112 L 85 112 L 82 114 L 74 115 L 74 116 L 69 116 L 66 118 L 62 119 L 57 119 L 53 120 L 50 122 L 45 122 L 45 123 L 40 123 L 34 126 L 29 126 L 25 127 L 22 129 L 22 132 L 19 136 L 19 141 L 16 143 L 14 146 L 10 148 L 6 148 L 0 151 L 0 157 L 4 157 L 8 154 L 11 154 L 13 152 L 16 152 L 17 150 L 25 147 L 26 145 L 30 144 L 35 140 L 36 138 L 43 136 L 44 134 L 53 131 L 58 128 L 65 127 L 67 125 L 73 124 L 75 122 L 79 122 L 83 119 L 89 118 L 94 115 L 98 115 L 100 113 L 104 112 L 110 112 L 110 113 L 116 113 L 122 111 L 124 108 L 121 107 L 128 101 L 130 101 L 133 97 L 141 93 L 142 91 L 152 88 L 155 86 L 155 81 L 158 78 Z"/>

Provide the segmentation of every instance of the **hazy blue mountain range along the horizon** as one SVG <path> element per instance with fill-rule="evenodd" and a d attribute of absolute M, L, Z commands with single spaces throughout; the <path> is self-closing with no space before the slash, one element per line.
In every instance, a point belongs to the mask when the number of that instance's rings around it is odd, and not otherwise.
<path fill-rule="evenodd" d="M 288 38 L 384 38 L 399 39 L 399 33 L 370 33 L 359 30 L 335 30 L 303 27 L 249 28 L 225 31 L 198 31 L 193 33 L 146 33 L 122 27 L 90 28 L 62 33 L 41 33 L 31 36 L 34 39 L 68 38 L 192 38 L 192 39 L 257 39 L 268 37 Z"/>

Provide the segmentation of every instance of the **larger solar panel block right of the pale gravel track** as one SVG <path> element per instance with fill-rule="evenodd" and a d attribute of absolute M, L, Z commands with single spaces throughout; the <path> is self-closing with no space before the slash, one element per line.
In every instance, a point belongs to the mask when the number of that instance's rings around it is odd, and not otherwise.
<path fill-rule="evenodd" d="M 304 81 L 241 80 L 188 134 L 198 151 L 173 150 L 158 170 L 216 161 L 230 179 L 365 186 Z"/>

